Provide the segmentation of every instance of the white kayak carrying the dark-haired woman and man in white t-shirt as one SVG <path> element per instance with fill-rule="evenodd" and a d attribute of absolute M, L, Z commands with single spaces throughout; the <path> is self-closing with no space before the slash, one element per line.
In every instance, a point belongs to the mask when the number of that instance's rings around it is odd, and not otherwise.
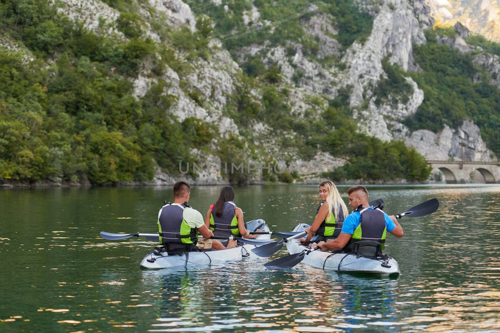
<path fill-rule="evenodd" d="M 246 223 L 246 228 L 253 232 L 260 229 L 262 232 L 269 232 L 269 227 L 264 220 L 257 219 Z M 267 235 L 258 235 L 258 240 L 269 240 L 271 237 Z M 255 245 L 242 244 L 230 249 L 222 250 L 201 250 L 191 251 L 187 253 L 167 255 L 166 252 L 159 252 L 156 249 L 149 252 L 140 262 L 140 266 L 146 269 L 163 269 L 182 266 L 197 266 L 218 264 L 228 260 L 255 256 L 251 251 Z"/>

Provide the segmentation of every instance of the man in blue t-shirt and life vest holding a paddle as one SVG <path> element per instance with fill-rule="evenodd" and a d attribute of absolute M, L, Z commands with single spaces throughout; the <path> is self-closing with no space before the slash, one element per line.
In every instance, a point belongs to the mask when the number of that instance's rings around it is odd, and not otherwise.
<path fill-rule="evenodd" d="M 403 229 L 393 215 L 388 216 L 368 205 L 368 191 L 364 186 L 352 186 L 347 190 L 347 194 L 349 206 L 354 212 L 345 218 L 340 235 L 334 240 L 313 243 L 312 247 L 318 246 L 322 251 L 334 251 L 358 240 L 373 240 L 384 244 L 385 230 L 398 238 L 403 237 Z M 362 233 L 361 214 L 363 214 Z"/>

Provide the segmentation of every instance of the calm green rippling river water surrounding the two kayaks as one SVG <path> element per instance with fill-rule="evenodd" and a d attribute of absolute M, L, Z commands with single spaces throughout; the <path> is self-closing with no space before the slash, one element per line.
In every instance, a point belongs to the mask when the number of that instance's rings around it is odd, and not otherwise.
<path fill-rule="evenodd" d="M 221 187 L 191 188 L 203 215 Z M 339 186 L 345 193 L 346 186 Z M 245 220 L 310 223 L 316 186 L 238 187 Z M 1 332 L 498 332 L 500 186 L 368 186 L 389 214 L 431 198 L 427 217 L 388 235 L 397 279 L 267 271 L 259 257 L 146 271 L 153 244 L 100 231 L 155 232 L 170 187 L 0 190 Z M 347 200 L 347 196 L 343 195 Z M 286 255 L 286 248 L 271 259 Z"/>

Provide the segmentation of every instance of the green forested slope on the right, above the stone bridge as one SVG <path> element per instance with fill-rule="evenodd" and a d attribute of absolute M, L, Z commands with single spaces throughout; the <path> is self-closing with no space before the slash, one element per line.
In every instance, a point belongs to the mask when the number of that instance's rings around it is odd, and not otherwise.
<path fill-rule="evenodd" d="M 414 46 L 413 55 L 422 71 L 408 74 L 423 90 L 424 100 L 405 123 L 411 130 L 437 132 L 445 124 L 456 128 L 463 120 L 472 119 L 488 148 L 500 156 L 500 90 L 488 83 L 491 73 L 473 65 L 470 53 L 437 43 L 436 32 L 450 36 L 450 30 L 426 30 L 427 43 Z M 477 36 L 470 40 L 492 52 L 500 47 Z"/>

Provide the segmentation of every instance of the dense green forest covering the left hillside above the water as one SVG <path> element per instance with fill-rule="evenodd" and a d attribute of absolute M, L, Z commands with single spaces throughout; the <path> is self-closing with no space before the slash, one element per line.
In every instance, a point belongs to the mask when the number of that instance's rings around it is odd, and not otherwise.
<path fill-rule="evenodd" d="M 175 172 L 192 160 L 189 147 L 214 135 L 198 119 L 172 119 L 165 110 L 174 98 L 161 82 L 140 100 L 131 95 L 138 64 L 163 51 L 150 39 L 96 36 L 41 0 L 0 9 L 2 32 L 34 55 L 24 62 L 0 52 L 1 178 L 149 180 L 154 161 Z"/>

